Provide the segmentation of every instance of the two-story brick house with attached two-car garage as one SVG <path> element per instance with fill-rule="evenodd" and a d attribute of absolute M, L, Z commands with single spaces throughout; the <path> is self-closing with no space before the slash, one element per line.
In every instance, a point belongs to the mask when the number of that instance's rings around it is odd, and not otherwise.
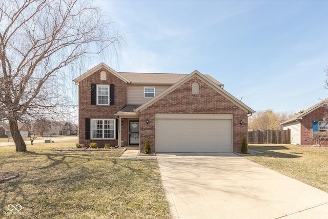
<path fill-rule="evenodd" d="M 240 152 L 254 110 L 223 84 L 190 74 L 124 73 L 101 63 L 74 79 L 79 143 L 154 152 Z"/>

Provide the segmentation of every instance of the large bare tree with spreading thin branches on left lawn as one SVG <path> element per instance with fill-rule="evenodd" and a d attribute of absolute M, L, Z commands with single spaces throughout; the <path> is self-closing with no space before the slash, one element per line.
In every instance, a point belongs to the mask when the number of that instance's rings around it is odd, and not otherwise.
<path fill-rule="evenodd" d="M 119 46 L 113 23 L 89 1 L 0 2 L 0 118 L 17 152 L 27 151 L 17 122 L 51 117 L 65 98 L 58 77 L 81 57 Z"/>

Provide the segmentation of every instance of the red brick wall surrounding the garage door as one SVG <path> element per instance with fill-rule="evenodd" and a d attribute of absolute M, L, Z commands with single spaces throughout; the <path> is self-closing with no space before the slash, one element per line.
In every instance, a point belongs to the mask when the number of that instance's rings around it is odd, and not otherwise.
<path fill-rule="evenodd" d="M 199 83 L 199 95 L 191 94 L 191 84 L 195 81 Z M 155 113 L 233 114 L 233 150 L 240 152 L 242 139 L 247 137 L 247 112 L 196 76 L 140 112 L 140 152 L 144 150 L 146 137 L 151 151 L 155 152 Z M 145 125 L 147 118 L 149 124 Z"/>

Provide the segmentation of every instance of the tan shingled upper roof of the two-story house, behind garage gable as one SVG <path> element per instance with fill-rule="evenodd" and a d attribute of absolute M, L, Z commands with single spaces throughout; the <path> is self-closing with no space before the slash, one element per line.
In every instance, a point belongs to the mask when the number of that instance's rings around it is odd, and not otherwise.
<path fill-rule="evenodd" d="M 133 73 L 133 72 L 116 72 L 109 66 L 104 63 L 100 63 L 96 67 L 90 69 L 86 73 L 80 75 L 79 77 L 75 78 L 73 81 L 75 83 L 79 83 L 86 77 L 90 76 L 94 72 L 105 68 L 122 81 L 128 84 L 158 84 L 158 85 L 174 85 L 178 81 L 180 81 L 183 77 L 188 76 L 189 74 L 173 74 L 173 73 Z M 205 75 L 209 78 L 212 82 L 217 84 L 218 86 L 223 87 L 223 84 L 218 82 L 216 79 L 211 77 L 210 75 Z"/>

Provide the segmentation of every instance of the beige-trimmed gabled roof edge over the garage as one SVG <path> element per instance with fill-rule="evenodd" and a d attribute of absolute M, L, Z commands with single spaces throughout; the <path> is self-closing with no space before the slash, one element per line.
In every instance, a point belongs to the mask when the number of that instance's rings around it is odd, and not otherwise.
<path fill-rule="evenodd" d="M 252 110 L 250 107 L 248 107 L 247 105 L 245 105 L 244 103 L 242 103 L 241 101 L 239 101 L 236 97 L 234 97 L 233 95 L 231 95 L 229 92 L 227 92 L 226 90 L 224 90 L 223 88 L 221 88 L 219 85 L 215 84 L 213 81 L 211 81 L 211 79 L 209 79 L 208 77 L 206 77 L 205 75 L 201 74 L 199 71 L 195 70 L 192 73 L 190 73 L 188 76 L 183 77 L 179 82 L 175 83 L 174 85 L 172 85 L 170 88 L 166 89 L 165 91 L 161 92 L 160 94 L 158 94 L 157 96 L 155 96 L 154 98 L 150 99 L 148 102 L 146 102 L 145 104 L 141 105 L 140 107 L 138 107 L 135 112 L 138 114 L 139 112 L 141 112 L 142 110 L 146 109 L 147 107 L 149 107 L 150 105 L 152 105 L 153 103 L 155 103 L 156 101 L 158 101 L 160 98 L 168 95 L 169 93 L 171 93 L 172 91 L 174 91 L 176 88 L 180 87 L 182 84 L 186 83 L 189 79 L 191 79 L 192 77 L 197 76 L 199 79 L 201 79 L 204 83 L 206 83 L 207 85 L 209 85 L 211 88 L 213 88 L 214 90 L 216 90 L 218 93 L 220 93 L 221 95 L 225 96 L 226 98 L 228 98 L 232 103 L 236 104 L 237 106 L 239 106 L 241 109 L 243 109 L 245 112 L 247 113 L 254 113 L 255 111 Z"/>

